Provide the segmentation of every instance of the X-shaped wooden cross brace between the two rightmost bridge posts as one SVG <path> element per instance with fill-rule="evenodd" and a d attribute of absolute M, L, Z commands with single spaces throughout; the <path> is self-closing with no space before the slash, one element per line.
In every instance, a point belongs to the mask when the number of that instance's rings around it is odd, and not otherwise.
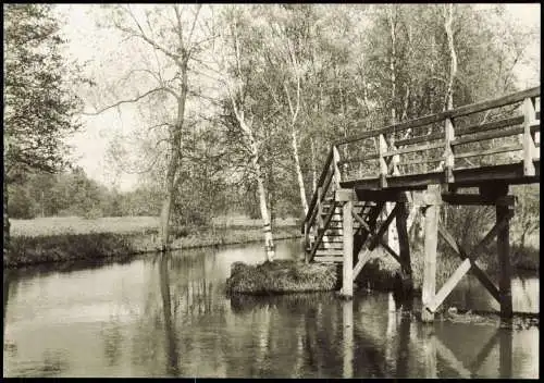
<path fill-rule="evenodd" d="M 511 213 L 510 213 L 511 217 Z M 509 217 L 509 218 L 510 218 Z M 465 249 L 457 244 L 455 238 L 445 230 L 442 224 L 438 224 L 438 233 L 444 237 L 446 243 L 463 259 L 461 264 L 457 268 L 456 271 L 449 276 L 449 279 L 444 283 L 438 293 L 434 296 L 431 302 L 426 306 L 426 309 L 431 312 L 436 311 L 440 305 L 447 298 L 447 296 L 452 293 L 452 291 L 457 286 L 459 281 L 465 276 L 465 274 L 472 270 L 474 276 L 484 285 L 484 287 L 490 292 L 493 297 L 500 302 L 500 295 L 493 282 L 491 282 L 490 277 L 483 270 L 481 270 L 475 263 L 477 257 L 480 252 L 495 238 L 498 232 L 508 224 L 509 218 L 504 219 L 493 226 L 493 228 L 485 235 L 485 237 L 474 247 L 472 250 L 472 256 L 468 256 Z"/>

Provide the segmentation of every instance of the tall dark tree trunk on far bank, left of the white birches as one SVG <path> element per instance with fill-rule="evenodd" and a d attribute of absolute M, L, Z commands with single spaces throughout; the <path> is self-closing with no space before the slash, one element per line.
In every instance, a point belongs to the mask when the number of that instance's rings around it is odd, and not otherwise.
<path fill-rule="evenodd" d="M 187 98 L 187 61 L 181 65 L 182 71 L 182 92 L 177 99 L 176 124 L 171 131 L 171 151 L 166 172 L 166 195 L 162 201 L 161 209 L 161 251 L 168 251 L 170 243 L 170 218 L 172 215 L 172 205 L 175 193 L 175 175 L 178 169 L 180 151 L 182 145 L 182 128 L 185 115 L 185 100 Z"/>

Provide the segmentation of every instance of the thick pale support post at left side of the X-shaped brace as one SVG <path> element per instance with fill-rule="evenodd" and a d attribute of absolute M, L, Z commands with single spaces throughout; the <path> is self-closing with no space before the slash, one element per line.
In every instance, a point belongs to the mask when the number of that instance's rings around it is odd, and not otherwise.
<path fill-rule="evenodd" d="M 430 185 L 424 196 L 428 202 L 425 214 L 425 239 L 424 239 L 424 264 L 423 264 L 423 291 L 421 320 L 423 322 L 432 322 L 434 312 L 429 310 L 429 305 L 434 299 L 436 288 L 436 247 L 438 244 L 438 203 L 440 186 Z"/>

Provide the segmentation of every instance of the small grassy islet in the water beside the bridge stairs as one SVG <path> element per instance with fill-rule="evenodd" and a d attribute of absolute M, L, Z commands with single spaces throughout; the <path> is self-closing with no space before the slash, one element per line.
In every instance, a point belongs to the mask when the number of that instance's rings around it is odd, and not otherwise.
<path fill-rule="evenodd" d="M 294 260 L 275 260 L 257 265 L 235 262 L 226 281 L 226 292 L 249 295 L 326 292 L 335 289 L 337 282 L 335 264 L 306 264 Z"/>

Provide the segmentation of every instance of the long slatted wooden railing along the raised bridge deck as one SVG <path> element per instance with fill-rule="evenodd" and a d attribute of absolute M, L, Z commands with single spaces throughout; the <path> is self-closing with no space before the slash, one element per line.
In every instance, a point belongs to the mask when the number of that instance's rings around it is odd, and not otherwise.
<path fill-rule="evenodd" d="M 445 182 L 453 183 L 454 170 L 519 161 L 523 161 L 523 174 L 532 176 L 539 147 L 540 86 L 333 145 L 338 158 L 344 153 L 337 162 L 341 181 L 379 178 L 381 187 L 392 176 L 431 172 L 444 172 Z"/>

